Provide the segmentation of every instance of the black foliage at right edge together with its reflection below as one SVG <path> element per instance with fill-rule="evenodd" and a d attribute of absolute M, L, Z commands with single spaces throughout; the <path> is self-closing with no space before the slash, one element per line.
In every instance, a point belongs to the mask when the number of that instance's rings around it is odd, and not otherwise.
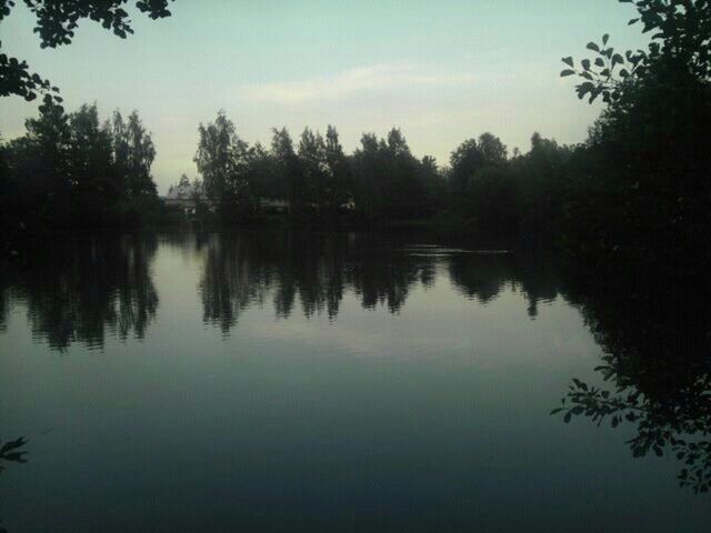
<path fill-rule="evenodd" d="M 604 36 L 588 44 L 594 66 L 563 59 L 561 74 L 584 80 L 579 97 L 608 104 L 569 162 L 563 229 L 590 280 L 579 301 L 605 351 L 595 370 L 614 390 L 573 380 L 553 413 L 635 424 L 635 457 L 667 450 L 680 484 L 708 492 L 711 2 L 634 4 L 648 51 L 615 53 Z M 630 301 L 602 303 L 609 292 Z"/>

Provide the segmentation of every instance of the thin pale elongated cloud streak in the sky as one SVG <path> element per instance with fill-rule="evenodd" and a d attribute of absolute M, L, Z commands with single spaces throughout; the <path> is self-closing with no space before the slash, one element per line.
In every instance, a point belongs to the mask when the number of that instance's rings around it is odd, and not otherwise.
<path fill-rule="evenodd" d="M 346 100 L 363 93 L 411 87 L 459 87 L 473 82 L 470 73 L 442 73 L 409 62 L 381 63 L 333 76 L 298 81 L 267 82 L 242 88 L 251 100 L 293 104 L 319 100 Z"/>

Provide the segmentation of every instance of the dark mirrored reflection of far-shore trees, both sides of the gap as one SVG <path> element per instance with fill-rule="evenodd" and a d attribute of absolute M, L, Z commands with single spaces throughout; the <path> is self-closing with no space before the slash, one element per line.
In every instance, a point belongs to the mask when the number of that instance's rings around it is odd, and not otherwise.
<path fill-rule="evenodd" d="M 419 241 L 415 241 L 419 242 Z M 505 253 L 475 253 L 427 244 L 402 245 L 402 238 L 356 233 L 173 232 L 161 243 L 200 258 L 198 290 L 206 323 L 229 332 L 244 310 L 272 302 L 279 318 L 294 308 L 310 318 L 336 319 L 347 293 L 363 309 L 395 314 L 417 286 L 433 285 L 438 269 L 460 293 L 485 304 L 505 288 L 520 291 L 528 313 L 561 292 L 550 262 Z M 107 333 L 142 339 L 156 316 L 158 293 L 151 279 L 154 237 L 73 239 L 43 251 L 41 264 L 7 269 L 0 280 L 0 328 L 11 302 L 28 310 L 33 336 L 52 349 L 72 342 L 102 348 Z M 51 268 L 49 268 L 51 265 Z"/>

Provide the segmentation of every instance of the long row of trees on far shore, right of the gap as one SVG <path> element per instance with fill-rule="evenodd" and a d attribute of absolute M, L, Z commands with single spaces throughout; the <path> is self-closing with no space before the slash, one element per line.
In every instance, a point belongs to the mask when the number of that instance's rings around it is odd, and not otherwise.
<path fill-rule="evenodd" d="M 273 129 L 269 148 L 241 139 L 223 111 L 200 124 L 194 158 L 203 191 L 223 222 L 250 220 L 263 199 L 286 199 L 297 220 L 357 223 L 428 220 L 460 231 L 540 232 L 560 222 L 570 162 L 582 147 L 539 133 L 531 149 L 509 157 L 492 133 L 462 142 L 449 165 L 412 154 L 398 128 L 363 133 L 344 153 L 336 127 L 306 128 L 298 141 Z M 179 184 L 187 184 L 187 177 Z"/>

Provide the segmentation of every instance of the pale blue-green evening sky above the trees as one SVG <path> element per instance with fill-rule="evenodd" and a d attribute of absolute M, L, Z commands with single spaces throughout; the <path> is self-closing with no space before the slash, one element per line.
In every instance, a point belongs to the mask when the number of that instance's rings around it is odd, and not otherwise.
<path fill-rule="evenodd" d="M 59 86 L 69 111 L 138 110 L 160 193 L 198 175 L 198 124 L 220 109 L 250 143 L 269 144 L 274 127 L 296 139 L 334 124 L 350 152 L 363 132 L 397 127 L 440 164 L 485 131 L 510 152 L 534 131 L 580 142 L 601 108 L 578 100 L 560 59 L 588 57 L 603 33 L 620 50 L 647 42 L 618 0 L 177 0 L 158 21 L 131 8 L 126 40 L 83 20 L 71 44 L 42 50 L 17 3 L 0 24 L 3 52 Z M 3 139 L 23 134 L 37 107 L 0 99 Z"/>

